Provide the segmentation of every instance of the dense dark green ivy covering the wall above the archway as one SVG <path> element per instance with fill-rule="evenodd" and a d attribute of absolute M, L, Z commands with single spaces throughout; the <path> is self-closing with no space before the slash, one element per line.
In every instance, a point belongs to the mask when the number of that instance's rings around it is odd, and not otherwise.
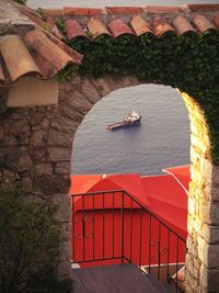
<path fill-rule="evenodd" d="M 64 29 L 62 29 L 64 31 Z M 173 32 L 155 38 L 122 35 L 95 41 L 76 37 L 68 42 L 84 58 L 78 68 L 82 76 L 132 75 L 146 82 L 178 88 L 201 106 L 209 125 L 212 161 L 219 165 L 219 32 L 203 34 Z"/>

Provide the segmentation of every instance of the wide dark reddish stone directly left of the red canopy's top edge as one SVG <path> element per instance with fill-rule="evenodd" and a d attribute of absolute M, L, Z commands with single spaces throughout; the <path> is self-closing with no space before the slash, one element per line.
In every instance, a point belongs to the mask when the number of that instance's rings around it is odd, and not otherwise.
<path fill-rule="evenodd" d="M 34 179 L 34 187 L 45 194 L 67 192 L 70 187 L 69 177 L 64 176 L 44 176 Z"/>

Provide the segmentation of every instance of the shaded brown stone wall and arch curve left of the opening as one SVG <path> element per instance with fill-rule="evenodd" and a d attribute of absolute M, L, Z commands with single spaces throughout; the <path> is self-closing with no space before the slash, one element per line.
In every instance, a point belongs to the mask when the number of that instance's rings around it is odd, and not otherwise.
<path fill-rule="evenodd" d="M 137 83 L 135 78 L 76 77 L 60 84 L 58 106 L 7 109 L 4 103 L 1 105 L 0 185 L 10 188 L 20 182 L 24 192 L 41 193 L 39 196 L 60 205 L 56 215 L 64 236 L 60 275 L 70 274 L 68 192 L 74 133 L 102 97 Z"/>

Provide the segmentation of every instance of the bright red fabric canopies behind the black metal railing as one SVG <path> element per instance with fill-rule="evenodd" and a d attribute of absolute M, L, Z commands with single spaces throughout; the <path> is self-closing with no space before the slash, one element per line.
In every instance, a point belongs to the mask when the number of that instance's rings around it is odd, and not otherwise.
<path fill-rule="evenodd" d="M 150 177 L 140 177 L 139 174 L 87 174 L 87 176 L 72 176 L 71 177 L 71 193 L 79 194 L 79 193 L 92 193 L 92 192 L 100 192 L 102 195 L 96 195 L 95 198 L 95 204 L 92 203 L 92 201 L 84 201 L 82 202 L 80 200 L 81 196 L 78 196 L 77 204 L 74 204 L 76 211 L 76 218 L 80 218 L 80 216 L 84 216 L 82 211 L 82 206 L 87 210 L 85 212 L 85 218 L 95 217 L 95 229 L 96 229 L 96 238 L 95 238 L 95 247 L 94 251 L 95 255 L 99 256 L 100 251 L 103 250 L 103 234 L 99 233 L 99 230 L 103 229 L 103 223 L 106 223 L 105 228 L 105 235 L 106 235 L 106 243 L 108 244 L 106 247 L 106 253 L 110 253 L 112 251 L 112 244 L 111 244 L 111 237 L 112 237 L 112 193 L 108 193 L 104 207 L 107 207 L 108 210 L 105 212 L 105 222 L 103 222 L 103 192 L 104 191 L 112 191 L 112 190 L 125 190 L 130 195 L 132 195 L 134 199 L 137 199 L 142 205 L 145 205 L 149 211 L 151 211 L 153 214 L 155 214 L 159 218 L 161 218 L 169 227 L 171 227 L 173 230 L 175 230 L 178 235 L 181 235 L 184 239 L 186 239 L 187 236 L 187 193 L 185 192 L 185 187 L 188 187 L 189 176 L 188 176 L 188 167 L 182 169 L 181 168 L 171 168 L 166 169 L 169 172 L 170 170 L 172 173 L 174 172 L 174 176 L 172 174 L 163 174 L 163 176 L 150 176 Z M 183 172 L 185 171 L 185 173 Z M 177 181 L 175 180 L 177 179 Z M 180 184 L 178 184 L 180 182 Z M 183 182 L 183 183 L 182 183 Z M 182 189 L 182 185 L 184 187 Z M 117 227 L 119 227 L 120 223 L 120 211 L 122 207 L 122 193 L 116 194 L 117 195 L 117 203 L 115 207 L 118 207 L 117 211 L 113 212 L 115 214 L 115 223 Z M 91 200 L 91 198 L 90 198 Z M 101 207 L 102 206 L 102 207 Z M 129 235 L 130 226 L 132 227 L 134 232 L 134 241 L 132 241 L 132 250 L 134 250 L 134 260 L 136 263 L 138 262 L 138 251 L 140 246 L 140 225 L 139 225 L 139 211 L 134 211 L 134 217 L 131 221 L 131 225 L 129 222 L 130 216 L 130 203 L 127 200 L 124 207 L 128 207 L 125 211 L 125 235 Z M 134 206 L 135 207 L 135 206 Z M 95 213 L 92 214 L 92 210 L 95 210 Z M 102 209 L 102 210 L 99 210 Z M 113 209 L 114 210 L 114 209 Z M 142 244 L 148 243 L 149 239 L 149 230 L 148 230 L 148 224 L 150 223 L 149 214 L 143 214 L 142 217 L 142 224 L 145 233 L 142 235 Z M 158 243 L 159 240 L 159 223 L 157 221 L 152 221 L 151 223 L 151 239 L 154 243 Z M 74 227 L 76 233 L 80 235 L 81 225 L 78 225 L 77 223 L 72 222 L 72 226 Z M 92 234 L 92 225 L 88 223 L 87 227 L 88 235 L 90 233 Z M 120 244 L 119 244 L 119 229 L 117 228 L 115 234 L 115 237 L 117 237 L 117 241 L 115 244 L 115 249 L 119 250 Z M 116 236 L 117 235 L 117 236 Z M 163 227 L 162 234 L 161 234 L 163 240 L 162 240 L 162 250 L 165 251 L 165 246 L 168 243 L 168 230 Z M 128 236 L 129 237 L 129 236 Z M 79 244 L 79 243 L 80 244 Z M 74 251 L 76 257 L 78 256 L 80 259 L 80 256 L 82 256 L 82 247 L 85 249 L 85 255 L 89 258 L 92 251 L 92 239 L 87 238 L 85 243 L 82 245 L 82 238 L 76 240 L 74 243 Z M 129 244 L 127 239 L 127 245 L 125 250 L 129 251 Z M 175 262 L 175 256 L 176 256 L 176 238 L 171 239 L 172 243 L 172 249 L 171 249 L 171 256 L 170 261 Z M 78 245 L 77 245 L 78 244 Z M 113 246 L 114 247 L 114 246 Z M 151 248 L 153 249 L 153 248 Z M 154 246 L 154 249 L 157 247 Z M 154 256 L 157 250 L 153 251 Z M 181 248 L 180 252 L 180 260 L 184 261 L 185 252 L 184 247 Z M 74 259 L 77 260 L 77 259 Z M 147 264 L 149 262 L 149 251 L 145 251 L 142 255 L 142 263 Z M 161 262 L 166 261 L 165 253 L 161 257 Z M 154 259 L 152 263 L 158 263 L 158 260 Z"/>

